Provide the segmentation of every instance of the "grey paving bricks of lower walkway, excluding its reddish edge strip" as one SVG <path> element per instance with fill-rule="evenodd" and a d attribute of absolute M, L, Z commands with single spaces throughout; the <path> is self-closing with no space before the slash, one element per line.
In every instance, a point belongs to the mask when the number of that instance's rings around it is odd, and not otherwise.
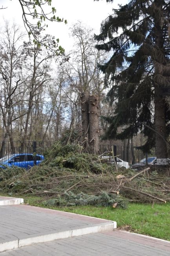
<path fill-rule="evenodd" d="M 108 241 L 103 243 L 103 241 Z M 91 241 L 91 243 L 89 242 Z M 155 240 L 154 240 L 155 241 Z M 56 241 L 51 241 L 48 243 L 41 243 L 36 245 L 30 245 L 27 247 L 22 247 L 14 249 L 12 252 L 14 256 L 22 255 L 28 256 L 105 256 L 105 255 L 115 255 L 115 256 L 169 256 L 168 251 L 157 249 L 155 241 L 155 247 L 144 246 L 143 243 L 137 243 L 130 241 L 128 239 L 121 239 L 121 244 L 117 243 L 117 237 L 115 237 L 114 232 L 110 236 L 104 233 L 88 234 L 80 237 L 71 237 L 67 239 L 60 239 Z M 101 245 L 99 246 L 99 244 Z M 161 241 L 161 243 L 163 243 Z M 165 242 L 166 243 L 166 242 Z M 104 248 L 103 248 L 104 247 Z M 2 252 L 0 256 L 10 255 L 11 251 Z M 27 254 L 26 254 L 27 253 Z M 12 254 L 11 254 L 12 255 Z"/>

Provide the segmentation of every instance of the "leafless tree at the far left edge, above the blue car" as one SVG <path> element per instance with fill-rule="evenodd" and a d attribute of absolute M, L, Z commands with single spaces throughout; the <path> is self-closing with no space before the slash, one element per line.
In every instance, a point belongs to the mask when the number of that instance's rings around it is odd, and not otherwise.
<path fill-rule="evenodd" d="M 22 83 L 18 69 L 25 58 L 23 45 L 20 44 L 23 36 L 15 24 L 10 28 L 6 22 L 0 42 L 0 109 L 5 128 L 4 139 L 9 137 L 13 150 L 13 121 L 18 119 L 15 113 L 16 103 L 14 99 L 17 95 L 17 89 Z"/>

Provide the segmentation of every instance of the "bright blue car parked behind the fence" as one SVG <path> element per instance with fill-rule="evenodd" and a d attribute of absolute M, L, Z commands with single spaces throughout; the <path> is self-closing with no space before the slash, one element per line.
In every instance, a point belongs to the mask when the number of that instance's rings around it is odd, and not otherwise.
<path fill-rule="evenodd" d="M 38 165 L 44 160 L 44 156 L 40 154 L 36 154 L 36 159 L 34 158 L 33 153 L 19 153 L 13 154 L 11 156 L 5 156 L 0 159 L 0 168 L 5 169 L 4 165 L 12 167 L 13 165 L 29 169 L 33 167 L 33 165 Z"/>

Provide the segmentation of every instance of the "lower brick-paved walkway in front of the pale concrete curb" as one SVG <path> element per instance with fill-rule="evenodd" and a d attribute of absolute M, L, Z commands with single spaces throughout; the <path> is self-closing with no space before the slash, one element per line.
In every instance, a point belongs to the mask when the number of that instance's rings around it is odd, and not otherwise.
<path fill-rule="evenodd" d="M 115 230 L 1 252 L 0 256 L 170 256 L 170 243 Z"/>

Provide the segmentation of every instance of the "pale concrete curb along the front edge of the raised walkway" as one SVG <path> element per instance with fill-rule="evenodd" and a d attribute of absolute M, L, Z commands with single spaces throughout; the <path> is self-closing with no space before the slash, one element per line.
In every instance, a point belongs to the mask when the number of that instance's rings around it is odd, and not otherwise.
<path fill-rule="evenodd" d="M 115 221 L 109 221 L 106 223 L 94 224 L 88 227 L 82 226 L 72 230 L 66 230 L 66 231 L 51 233 L 51 234 L 49 233 L 40 234 L 39 236 L 31 236 L 25 239 L 7 241 L 4 243 L 0 243 L 0 252 L 3 252 L 4 250 L 16 249 L 26 245 L 32 245 L 34 243 L 44 243 L 44 242 L 54 241 L 57 239 L 69 238 L 73 236 L 82 236 L 82 235 L 91 234 L 91 233 L 110 231 L 116 228 L 116 226 L 117 226 L 117 223 Z"/>

